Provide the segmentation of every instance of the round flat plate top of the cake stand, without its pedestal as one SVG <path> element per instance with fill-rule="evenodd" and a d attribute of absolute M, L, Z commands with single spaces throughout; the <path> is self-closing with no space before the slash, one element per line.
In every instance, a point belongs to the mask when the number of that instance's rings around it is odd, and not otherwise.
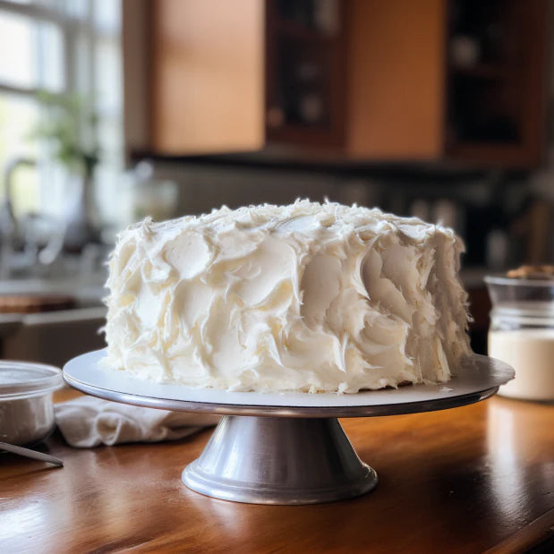
<path fill-rule="evenodd" d="M 514 378 L 504 362 L 474 354 L 453 371 L 445 384 L 362 391 L 357 394 L 303 392 L 228 392 L 188 388 L 133 377 L 104 368 L 104 350 L 82 354 L 64 367 L 73 388 L 115 402 L 184 412 L 277 417 L 360 417 L 429 412 L 478 402 Z"/>

